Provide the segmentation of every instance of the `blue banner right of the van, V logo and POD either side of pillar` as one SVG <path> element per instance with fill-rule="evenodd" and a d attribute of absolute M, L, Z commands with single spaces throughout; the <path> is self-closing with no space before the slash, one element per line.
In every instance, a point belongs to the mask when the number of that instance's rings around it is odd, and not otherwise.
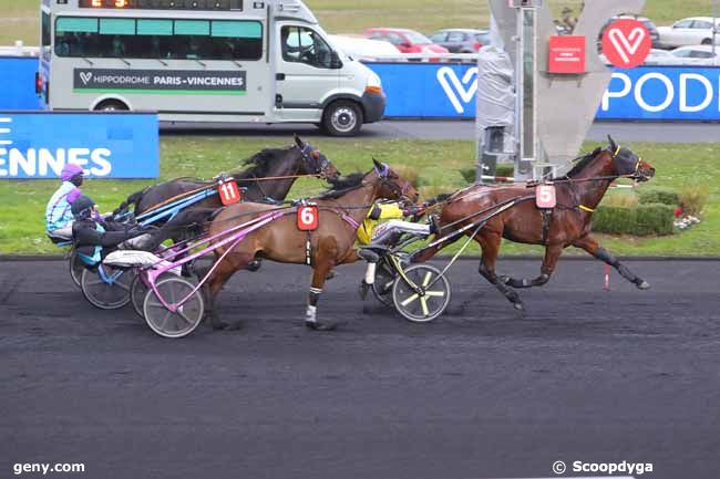
<path fill-rule="evenodd" d="M 474 118 L 472 64 L 368 63 L 388 94 L 388 117 Z M 597 119 L 720 121 L 720 69 L 615 70 Z"/>

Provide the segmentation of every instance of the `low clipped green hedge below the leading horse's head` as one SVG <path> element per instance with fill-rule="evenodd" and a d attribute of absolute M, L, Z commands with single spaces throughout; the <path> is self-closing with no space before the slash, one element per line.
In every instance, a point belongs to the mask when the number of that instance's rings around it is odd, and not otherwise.
<path fill-rule="evenodd" d="M 593 215 L 593 230 L 614 235 L 672 235 L 673 207 L 662 204 L 631 208 L 600 205 Z"/>

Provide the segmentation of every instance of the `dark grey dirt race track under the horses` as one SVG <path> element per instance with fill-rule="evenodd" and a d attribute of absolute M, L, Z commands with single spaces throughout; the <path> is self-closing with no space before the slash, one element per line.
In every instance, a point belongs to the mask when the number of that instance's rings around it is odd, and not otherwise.
<path fill-rule="evenodd" d="M 47 477 L 89 479 L 555 477 L 556 460 L 579 477 L 575 461 L 625 460 L 652 464 L 640 478 L 717 479 L 720 262 L 628 265 L 652 289 L 614 274 L 605 292 L 601 264 L 562 260 L 518 316 L 461 261 L 426 325 L 363 311 L 361 265 L 344 267 L 319 314 L 347 323 L 317 333 L 301 325 L 308 269 L 266 263 L 220 296 L 239 331 L 172 341 L 130 306 L 93 309 L 63 262 L 2 262 L 0 477 L 20 462 L 83 462 Z"/>

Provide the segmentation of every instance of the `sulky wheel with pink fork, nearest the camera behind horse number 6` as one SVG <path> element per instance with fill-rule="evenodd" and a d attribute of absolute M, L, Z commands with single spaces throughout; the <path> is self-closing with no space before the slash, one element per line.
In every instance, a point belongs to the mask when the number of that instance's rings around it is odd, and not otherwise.
<path fill-rule="evenodd" d="M 183 337 L 195 331 L 203 321 L 205 302 L 199 290 L 193 292 L 195 285 L 183 278 L 166 278 L 157 283 L 157 292 L 168 304 L 175 305 L 183 299 L 187 300 L 172 312 L 166 309 L 154 291 L 145 295 L 143 312 L 145 322 L 155 333 L 164 337 Z"/>

